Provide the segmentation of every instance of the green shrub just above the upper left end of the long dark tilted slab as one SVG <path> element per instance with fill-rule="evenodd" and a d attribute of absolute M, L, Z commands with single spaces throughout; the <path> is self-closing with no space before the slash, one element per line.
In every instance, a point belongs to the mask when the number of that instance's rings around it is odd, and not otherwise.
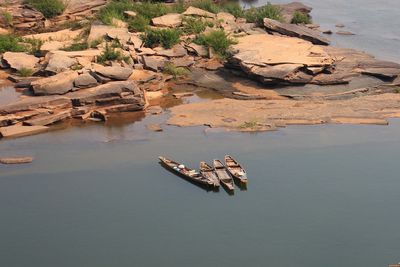
<path fill-rule="evenodd" d="M 248 22 L 254 22 L 258 25 L 264 24 L 264 18 L 282 21 L 282 10 L 279 6 L 268 3 L 259 8 L 250 8 L 244 12 L 244 17 Z"/>

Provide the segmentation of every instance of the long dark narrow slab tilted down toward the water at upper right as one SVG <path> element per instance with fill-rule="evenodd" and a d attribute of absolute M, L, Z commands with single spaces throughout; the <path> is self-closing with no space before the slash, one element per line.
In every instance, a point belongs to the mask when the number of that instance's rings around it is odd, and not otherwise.
<path fill-rule="evenodd" d="M 329 40 L 322 37 L 317 31 L 311 30 L 305 26 L 281 23 L 269 18 L 264 19 L 264 26 L 268 31 L 278 32 L 283 35 L 298 37 L 313 44 L 329 45 Z"/>

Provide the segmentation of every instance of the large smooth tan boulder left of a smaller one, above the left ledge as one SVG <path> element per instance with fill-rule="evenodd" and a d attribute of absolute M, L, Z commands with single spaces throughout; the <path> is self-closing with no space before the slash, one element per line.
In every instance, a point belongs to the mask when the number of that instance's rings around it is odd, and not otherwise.
<path fill-rule="evenodd" d="M 74 88 L 74 80 L 78 77 L 76 71 L 61 72 L 57 75 L 43 78 L 31 83 L 35 95 L 61 95 Z"/>

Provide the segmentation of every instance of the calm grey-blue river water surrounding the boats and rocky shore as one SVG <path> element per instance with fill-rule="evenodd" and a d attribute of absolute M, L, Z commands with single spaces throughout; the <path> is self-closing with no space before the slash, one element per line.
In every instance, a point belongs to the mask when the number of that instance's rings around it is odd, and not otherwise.
<path fill-rule="evenodd" d="M 341 22 L 357 33 L 333 36 L 338 45 L 400 61 L 398 0 L 308 2 L 315 22 Z M 0 165 L 0 266 L 376 267 L 400 261 L 400 121 L 257 134 L 166 125 L 162 133 L 146 130 L 164 119 L 139 114 L 132 123 L 75 125 L 0 141 L 0 156 L 35 157 L 28 165 Z M 225 153 L 247 168 L 247 191 L 207 192 L 157 163 L 167 155 L 197 167 Z"/>

